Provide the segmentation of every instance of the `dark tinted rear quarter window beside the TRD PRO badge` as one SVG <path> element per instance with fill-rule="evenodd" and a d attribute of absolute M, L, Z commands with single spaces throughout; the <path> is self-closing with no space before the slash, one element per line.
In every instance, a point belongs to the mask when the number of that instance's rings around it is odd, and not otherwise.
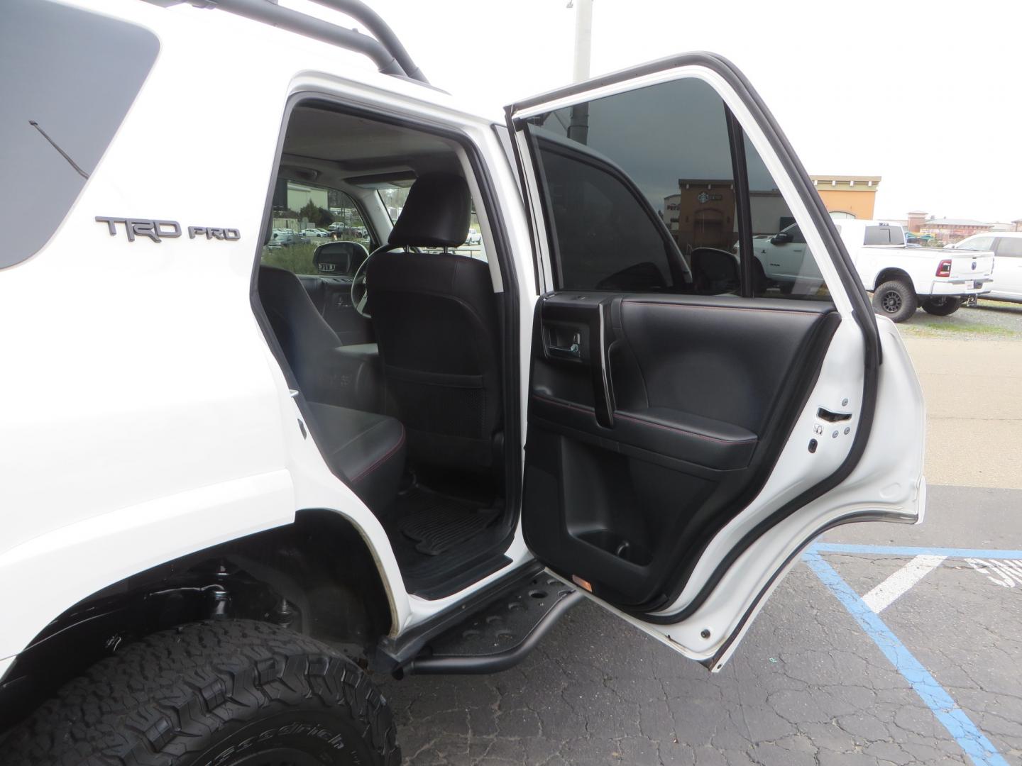
<path fill-rule="evenodd" d="M 139 27 L 45 0 L 0 23 L 0 269 L 33 255 L 71 209 L 159 50 Z"/>

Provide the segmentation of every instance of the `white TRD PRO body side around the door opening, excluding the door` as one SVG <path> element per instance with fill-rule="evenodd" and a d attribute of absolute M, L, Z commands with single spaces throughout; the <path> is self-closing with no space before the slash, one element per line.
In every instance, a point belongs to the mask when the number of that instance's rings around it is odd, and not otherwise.
<path fill-rule="evenodd" d="M 95 10 L 94 3 L 67 4 Z M 0 397 L 18 402 L 5 412 L 0 440 L 4 507 L 16 509 L 0 541 L 0 584 L 13 616 L 0 636 L 0 658 L 17 654 L 54 617 L 130 574 L 288 524 L 304 508 L 333 510 L 361 531 L 389 591 L 393 634 L 529 561 L 519 532 L 504 570 L 445 600 L 413 603 L 376 517 L 330 473 L 312 438 L 301 438 L 300 413 L 249 300 L 289 94 L 336 93 L 463 131 L 494 176 L 512 245 L 527 252 L 521 201 L 493 132 L 496 119 L 474 116 L 440 92 L 379 75 L 358 54 L 227 13 L 138 0 L 102 6 L 154 31 L 160 50 L 54 236 L 0 274 L 0 322 L 33 328 L 5 334 L 2 344 L 4 358 L 32 364 L 19 364 L 17 376 L 0 377 Z M 196 47 L 218 51 L 225 65 L 210 66 L 208 58 L 194 55 Z M 274 50 L 274 56 L 253 56 L 254 50 Z M 249 62 L 248 77 L 236 77 L 228 65 L 237 60 Z M 309 74 L 317 70 L 347 77 Z M 167 94 L 180 92 L 182 82 L 202 82 L 207 93 L 230 97 L 203 98 L 201 108 L 168 108 Z M 181 140 L 200 135 L 211 122 L 235 140 Z M 158 171 L 140 161 L 154 147 Z M 240 193 L 224 194 L 225 185 Z M 128 242 L 123 229 L 110 236 L 94 220 L 118 214 L 229 226 L 241 238 Z M 484 214 L 479 223 L 489 236 Z M 514 265 L 527 306 L 537 297 L 530 266 L 528 258 Z M 154 289 L 140 291 L 140 284 Z M 47 285 L 46 301 L 39 285 Z M 523 310 L 525 358 L 531 322 L 531 310 Z M 41 337 L 53 339 L 50 351 L 40 352 Z M 96 338 L 106 340 L 97 344 Z M 99 347 L 110 353 L 97 357 Z M 525 366 L 522 391 L 527 375 Z M 97 556 L 90 540 L 100 538 Z M 67 578 L 67 571 L 79 574 Z M 33 588 L 13 586 L 25 581 Z"/>

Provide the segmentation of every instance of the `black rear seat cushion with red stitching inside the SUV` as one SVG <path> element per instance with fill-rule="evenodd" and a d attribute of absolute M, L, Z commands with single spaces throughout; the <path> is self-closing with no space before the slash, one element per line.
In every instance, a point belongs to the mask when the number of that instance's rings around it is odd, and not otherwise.
<path fill-rule="evenodd" d="M 309 402 L 313 434 L 327 464 L 373 511 L 398 493 L 405 470 L 405 427 L 396 418 Z"/>

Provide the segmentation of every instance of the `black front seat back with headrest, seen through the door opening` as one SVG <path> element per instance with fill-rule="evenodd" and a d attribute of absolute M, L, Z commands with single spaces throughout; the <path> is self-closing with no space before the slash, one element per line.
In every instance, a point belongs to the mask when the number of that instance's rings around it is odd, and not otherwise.
<path fill-rule="evenodd" d="M 460 176 L 412 185 L 388 244 L 456 247 L 471 197 Z M 386 412 L 408 429 L 420 464 L 485 469 L 501 431 L 500 333 L 489 266 L 450 253 L 377 252 L 366 286 L 379 346 Z"/>

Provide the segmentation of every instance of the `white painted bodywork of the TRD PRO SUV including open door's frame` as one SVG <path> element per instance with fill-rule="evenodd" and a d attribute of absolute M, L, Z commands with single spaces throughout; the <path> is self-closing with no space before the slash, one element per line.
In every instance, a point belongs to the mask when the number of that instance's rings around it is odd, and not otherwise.
<path fill-rule="evenodd" d="M 95 9 L 86 0 L 69 4 Z M 440 92 L 379 75 L 358 54 L 225 12 L 187 4 L 164 9 L 138 0 L 106 0 L 101 7 L 157 31 L 161 47 L 54 236 L 34 256 L 0 273 L 0 323 L 33 328 L 5 334 L 0 347 L 5 360 L 20 361 L 18 375 L 0 378 L 0 398 L 17 402 L 4 415 L 0 440 L 4 507 L 13 509 L 0 541 L 0 584 L 9 617 L 0 636 L 0 675 L 10 657 L 82 599 L 185 554 L 288 524 L 303 509 L 333 511 L 360 531 L 387 591 L 391 636 L 528 562 L 531 554 L 519 528 L 506 554 L 511 563 L 503 570 L 444 599 L 410 596 L 379 521 L 299 430 L 300 412 L 250 304 L 253 258 L 262 244 L 258 234 L 289 97 L 332 94 L 349 104 L 459 131 L 487 171 L 515 254 L 508 267 L 515 270 L 521 306 L 517 350 L 524 418 L 538 299 L 532 224 L 493 130 L 502 121 L 475 116 Z M 197 56 L 196 50 L 206 53 Z M 274 54 L 265 55 L 267 50 Z M 243 78 L 236 74 L 239 61 Z M 344 76 L 327 74 L 337 71 Z M 721 93 L 803 225 L 820 273 L 828 284 L 840 284 L 780 158 L 719 76 L 683 67 L 590 95 L 677 77 L 703 79 Z M 182 83 L 195 82 L 203 83 L 201 96 L 169 105 L 169 94 L 181 94 Z M 203 135 L 210 124 L 232 140 L 182 140 Z M 462 160 L 467 166 L 467 157 Z M 467 175 L 471 187 L 475 181 Z M 526 174 L 526 196 L 535 195 L 533 184 Z M 228 187 L 236 193 L 225 194 Z M 478 189 L 473 193 L 479 200 Z M 476 204 L 476 211 L 482 240 L 492 243 L 486 210 Z M 94 220 L 120 214 L 233 227 L 241 237 L 129 243 Z M 549 284 L 545 237 L 537 241 L 541 280 Z M 491 266 L 497 289 L 505 289 L 496 262 Z M 46 286 L 45 301 L 39 299 L 40 285 Z M 863 394 L 863 339 L 852 304 L 840 289 L 833 298 L 842 324 L 777 470 L 714 538 L 676 606 L 705 584 L 749 526 L 847 456 L 854 430 L 822 439 L 815 460 L 805 451 L 818 425 L 817 408 L 858 412 Z M 827 524 L 852 513 L 901 521 L 920 517 L 922 485 L 903 479 L 920 473 L 922 395 L 918 383 L 905 394 L 899 382 L 899 376 L 912 381 L 915 376 L 896 331 L 882 323 L 881 336 L 885 367 L 875 422 L 885 424 L 884 432 L 870 440 L 851 476 L 746 549 L 690 619 L 675 626 L 626 619 L 682 654 L 705 660 L 747 624 L 747 614 L 761 604 L 766 584 L 776 582 L 791 553 Z M 41 338 L 49 343 L 41 345 Z M 856 423 L 853 419 L 852 429 Z M 523 433 L 524 428 L 523 422 Z M 867 501 L 876 497 L 884 501 Z M 19 582 L 33 587 L 15 587 Z M 710 637 L 703 639 L 706 628 Z"/>

